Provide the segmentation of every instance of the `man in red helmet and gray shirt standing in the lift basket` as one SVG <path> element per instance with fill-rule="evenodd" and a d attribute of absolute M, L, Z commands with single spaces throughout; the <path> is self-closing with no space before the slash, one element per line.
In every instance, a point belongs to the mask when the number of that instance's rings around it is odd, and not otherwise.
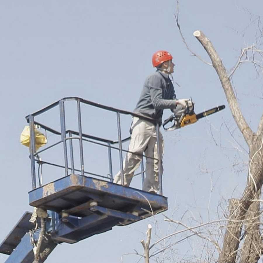
<path fill-rule="evenodd" d="M 172 55 L 167 51 L 157 51 L 153 54 L 152 63 L 157 70 L 146 78 L 134 113 L 151 117 L 161 125 L 164 109 L 169 108 L 174 111 L 176 108 L 185 108 L 188 99 L 177 100 L 174 94 L 172 81 L 174 63 L 172 62 Z M 146 178 L 143 182 L 143 191 L 157 193 L 159 182 L 158 160 L 155 160 L 158 159 L 156 124 L 133 117 L 130 132 L 129 152 L 123 161 L 124 186 L 129 186 L 131 183 L 134 171 L 139 167 L 144 152 L 150 158 L 146 158 Z M 159 133 L 159 145 L 162 174 L 163 138 L 161 133 Z M 120 172 L 115 175 L 113 182 L 121 184 Z"/>

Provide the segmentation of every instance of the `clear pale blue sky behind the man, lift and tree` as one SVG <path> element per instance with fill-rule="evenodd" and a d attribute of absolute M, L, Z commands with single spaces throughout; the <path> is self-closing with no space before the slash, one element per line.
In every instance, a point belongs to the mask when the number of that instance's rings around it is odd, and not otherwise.
<path fill-rule="evenodd" d="M 255 41 L 254 17 L 250 20 L 249 12 L 243 8 L 262 15 L 263 2 L 181 1 L 181 30 L 191 49 L 208 60 L 203 47 L 193 37 L 195 30 L 202 30 L 229 70 L 236 63 L 240 49 Z M 26 210 L 32 210 L 27 193 L 31 190 L 28 149 L 19 143 L 26 115 L 66 96 L 79 96 L 132 111 L 144 79 L 154 71 L 151 56 L 159 49 L 172 53 L 176 64 L 174 80 L 181 85 L 181 88 L 175 86 L 177 97 L 192 96 L 196 113 L 227 105 L 214 69 L 192 57 L 182 43 L 174 19 L 175 9 L 174 0 L 0 1 L 0 241 Z M 263 93 L 262 77 L 255 77 L 252 66 L 245 65 L 233 79 L 241 110 L 254 131 L 263 109 L 259 98 Z M 69 123 L 75 125 L 75 115 L 70 110 L 67 113 Z M 167 111 L 165 116 L 169 114 Z M 102 116 L 105 115 L 101 112 L 85 108 L 83 132 L 117 139 L 115 116 L 109 115 L 108 119 Z M 43 122 L 56 126 L 58 114 L 44 116 Z M 200 212 L 205 220 L 210 176 L 213 184 L 216 183 L 210 200 L 212 214 L 220 197 L 228 199 L 232 194 L 238 197 L 242 192 L 247 167 L 242 170 L 243 164 L 231 166 L 235 161 L 247 162 L 248 157 L 236 150 L 240 146 L 224 123 L 232 131 L 236 129 L 228 107 L 208 120 L 200 120 L 179 131 L 162 130 L 167 215 L 177 207 L 174 218 L 179 219 L 191 205 L 193 213 Z M 128 135 L 129 124 L 130 118 L 123 118 L 123 136 Z M 217 141 L 221 138 L 221 148 L 215 146 L 210 127 L 214 138 Z M 235 136 L 247 150 L 239 131 Z M 53 136 L 49 142 L 52 140 L 55 140 Z M 107 173 L 107 159 L 98 160 L 97 149 L 91 153 L 88 150 L 91 148 L 87 149 L 85 163 L 94 171 Z M 50 157 L 56 159 L 57 154 Z M 117 172 L 117 155 L 113 158 L 114 172 Z M 214 172 L 202 173 L 200 167 Z M 227 168 L 221 169 L 223 167 Z M 241 172 L 236 172 L 239 170 Z M 63 176 L 63 171 L 58 171 Z M 49 176 L 53 175 L 47 175 L 46 180 Z M 139 181 L 135 179 L 133 185 L 139 187 Z M 158 218 L 162 220 L 162 215 Z M 112 231 L 74 245 L 58 245 L 46 262 L 121 262 L 122 254 L 133 252 L 134 248 L 142 251 L 139 242 L 149 222 L 152 220 L 114 227 Z M 163 227 L 165 229 L 165 225 Z M 153 240 L 156 239 L 153 236 Z M 5 255 L 0 255 L 0 262 L 5 259 Z M 135 262 L 135 259 L 125 256 L 124 262 Z"/>

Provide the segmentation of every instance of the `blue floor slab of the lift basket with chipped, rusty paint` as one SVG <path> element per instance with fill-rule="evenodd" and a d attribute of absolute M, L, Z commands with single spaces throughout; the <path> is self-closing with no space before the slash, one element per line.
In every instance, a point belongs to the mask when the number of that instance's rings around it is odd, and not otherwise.
<path fill-rule="evenodd" d="M 76 217 L 91 215 L 89 204 L 92 201 L 107 209 L 135 212 L 140 219 L 168 208 L 165 196 L 78 174 L 70 174 L 29 192 L 30 205 L 57 213 L 66 210 Z M 131 223 L 124 221 L 122 225 Z"/>

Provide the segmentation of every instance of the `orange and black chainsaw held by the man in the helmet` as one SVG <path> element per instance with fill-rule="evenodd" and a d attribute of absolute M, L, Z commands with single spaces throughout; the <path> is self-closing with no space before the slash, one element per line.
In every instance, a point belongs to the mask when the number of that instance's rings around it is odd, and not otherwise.
<path fill-rule="evenodd" d="M 173 131 L 175 129 L 179 129 L 181 127 L 193 124 L 197 122 L 199 119 L 206 117 L 208 115 L 211 115 L 213 113 L 216 113 L 220 110 L 223 110 L 226 108 L 225 105 L 214 107 L 210 110 L 206 110 L 204 112 L 195 114 L 194 112 L 194 103 L 192 100 L 186 101 L 186 108 L 180 109 L 178 111 L 175 111 L 174 114 L 172 114 L 168 119 L 166 119 L 162 123 L 162 127 L 165 131 Z M 174 121 L 173 125 L 171 127 L 166 128 L 165 125 L 168 122 Z"/>

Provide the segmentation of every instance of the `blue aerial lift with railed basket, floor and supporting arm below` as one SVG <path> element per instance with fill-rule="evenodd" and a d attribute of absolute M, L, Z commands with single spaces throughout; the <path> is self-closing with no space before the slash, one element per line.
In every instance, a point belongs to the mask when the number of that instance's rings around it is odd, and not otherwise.
<path fill-rule="evenodd" d="M 65 125 L 65 102 L 77 102 L 78 131 L 66 130 Z M 97 108 L 102 108 L 117 115 L 118 141 L 100 138 L 82 132 L 81 103 L 88 104 Z M 35 117 L 49 111 L 59 105 L 60 131 L 51 129 L 35 121 Z M 120 114 L 141 117 L 150 121 L 153 119 L 134 114 L 128 111 L 119 110 L 105 105 L 86 101 L 81 98 L 63 98 L 46 108 L 37 111 L 26 117 L 30 126 L 30 162 L 32 176 L 32 191 L 29 192 L 29 204 L 43 211 L 47 211 L 44 219 L 45 233 L 48 235 L 48 242 L 40 245 L 40 250 L 48 251 L 46 257 L 56 247 L 58 243 L 76 243 L 82 239 L 93 236 L 94 234 L 109 231 L 113 226 L 125 226 L 141 219 L 150 217 L 168 209 L 167 198 L 162 195 L 162 180 L 159 173 L 160 193 L 153 194 L 139 189 L 123 186 L 123 152 L 122 143 L 129 140 L 122 140 L 120 129 Z M 60 136 L 60 140 L 53 145 L 45 146 L 43 150 L 36 151 L 35 147 L 35 125 L 45 131 Z M 159 126 L 156 124 L 157 138 L 159 136 Z M 75 168 L 74 151 L 72 140 L 79 141 L 79 163 L 80 169 Z M 83 143 L 89 142 L 107 148 L 108 152 L 108 175 L 99 175 L 84 170 Z M 157 139 L 158 142 L 158 139 Z M 50 150 L 58 144 L 63 144 L 64 165 L 59 165 L 41 160 L 39 154 Z M 118 144 L 115 147 L 114 144 Z M 159 147 L 159 145 L 158 145 Z M 122 185 L 113 183 L 112 157 L 111 150 L 119 152 L 120 171 Z M 68 151 L 70 156 L 70 167 L 68 165 Z M 143 159 L 150 158 L 142 156 L 141 174 L 144 180 Z M 159 158 L 159 155 L 158 155 Z M 51 165 L 64 169 L 65 175 L 42 185 L 40 174 L 38 174 L 39 186 L 37 187 L 36 164 L 39 168 L 43 165 Z M 159 171 L 160 171 L 160 162 Z M 40 169 L 38 169 L 39 172 Z M 36 247 L 40 239 L 40 218 L 35 222 L 30 222 L 31 212 L 25 212 L 13 230 L 8 234 L 0 245 L 0 253 L 10 255 L 6 262 L 33 262 L 36 254 Z M 43 221 L 42 221 L 43 222 Z M 40 252 L 41 252 L 40 251 Z M 43 257 L 39 262 L 44 262 Z"/>

